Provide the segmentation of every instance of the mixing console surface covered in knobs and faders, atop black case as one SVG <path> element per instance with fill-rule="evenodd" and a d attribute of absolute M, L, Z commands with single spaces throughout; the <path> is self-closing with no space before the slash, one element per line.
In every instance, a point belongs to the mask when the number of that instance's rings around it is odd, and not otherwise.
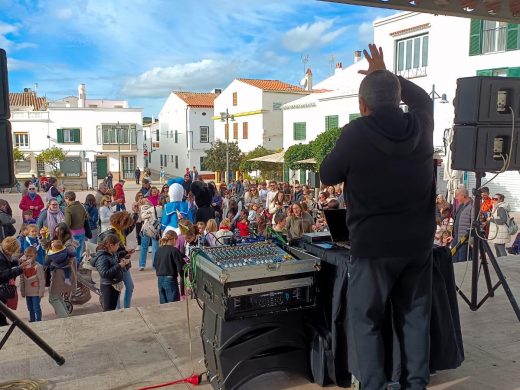
<path fill-rule="evenodd" d="M 276 244 L 268 241 L 237 246 L 205 248 L 205 257 L 221 269 L 282 263 L 295 260 Z"/>

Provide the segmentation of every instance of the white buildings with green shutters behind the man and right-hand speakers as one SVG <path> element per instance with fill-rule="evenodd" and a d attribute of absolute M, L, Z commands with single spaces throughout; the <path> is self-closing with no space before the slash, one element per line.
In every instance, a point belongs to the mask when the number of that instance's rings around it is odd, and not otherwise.
<path fill-rule="evenodd" d="M 475 75 L 520 77 L 520 29 L 518 25 L 449 16 L 404 12 L 374 22 L 374 41 L 383 48 L 388 69 L 412 80 L 434 97 L 434 145 L 444 147 L 445 130 L 453 125 L 452 102 L 456 80 Z M 333 92 L 312 94 L 284 106 L 284 148 L 302 142 L 291 139 L 294 124 L 305 122 L 325 128 L 326 117 L 338 116 L 340 126 L 357 112 L 357 91 L 364 60 L 316 84 Z M 305 99 L 310 99 L 307 101 Z M 304 105 L 310 107 L 305 109 Z M 308 126 L 310 127 L 310 126 Z M 306 142 L 315 133 L 309 132 Z M 489 176 L 489 175 L 488 175 Z M 474 186 L 473 174 L 464 175 Z M 501 192 L 515 210 L 520 210 L 520 175 L 506 172 L 489 184 Z"/>

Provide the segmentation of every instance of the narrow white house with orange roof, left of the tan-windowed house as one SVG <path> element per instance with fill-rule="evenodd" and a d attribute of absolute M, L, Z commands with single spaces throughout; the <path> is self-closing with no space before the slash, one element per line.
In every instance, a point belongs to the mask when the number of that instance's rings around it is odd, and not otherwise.
<path fill-rule="evenodd" d="M 151 169 L 159 171 L 162 166 L 170 176 L 182 176 L 192 167 L 207 173 L 204 156 L 214 140 L 212 117 L 217 96 L 196 92 L 172 92 L 168 96 L 159 113 L 158 128 L 152 131 L 159 148 L 151 153 Z"/>

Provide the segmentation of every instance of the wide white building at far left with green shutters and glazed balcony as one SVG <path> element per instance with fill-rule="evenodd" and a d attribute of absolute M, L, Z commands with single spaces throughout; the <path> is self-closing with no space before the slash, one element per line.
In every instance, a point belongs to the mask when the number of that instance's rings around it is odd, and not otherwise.
<path fill-rule="evenodd" d="M 26 156 L 58 146 L 67 152 L 60 164 L 63 176 L 82 178 L 89 187 L 108 171 L 114 180 L 133 177 L 142 109 L 129 108 L 124 100 L 88 100 L 84 84 L 77 98 L 49 102 L 27 90 L 10 93 L 9 100 L 13 143 Z M 40 165 L 32 173 L 49 173 L 48 169 Z"/>

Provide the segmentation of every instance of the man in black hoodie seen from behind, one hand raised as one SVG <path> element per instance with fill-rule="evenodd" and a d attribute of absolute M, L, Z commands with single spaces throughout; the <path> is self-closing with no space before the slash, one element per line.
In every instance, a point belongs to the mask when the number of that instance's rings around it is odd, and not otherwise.
<path fill-rule="evenodd" d="M 386 389 L 381 332 L 391 300 L 401 386 L 425 389 L 435 231 L 433 104 L 423 89 L 386 70 L 381 48 L 369 48 L 369 68 L 360 71 L 366 75 L 359 88 L 362 117 L 343 128 L 320 167 L 324 184 L 344 183 L 348 204 L 349 366 L 364 390 Z"/>

